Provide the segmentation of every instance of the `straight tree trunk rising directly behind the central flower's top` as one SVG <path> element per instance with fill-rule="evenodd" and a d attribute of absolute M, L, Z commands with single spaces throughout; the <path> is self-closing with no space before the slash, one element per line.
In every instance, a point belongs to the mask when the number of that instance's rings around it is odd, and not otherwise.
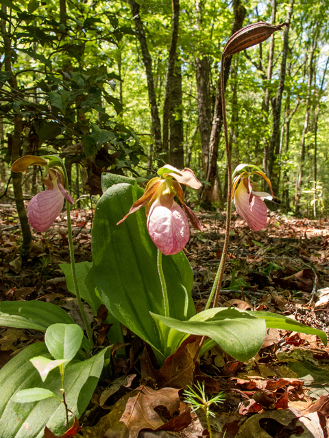
<path fill-rule="evenodd" d="M 170 164 L 175 168 L 184 168 L 184 125 L 182 109 L 182 68 L 175 64 L 175 74 L 171 89 L 170 104 Z"/>

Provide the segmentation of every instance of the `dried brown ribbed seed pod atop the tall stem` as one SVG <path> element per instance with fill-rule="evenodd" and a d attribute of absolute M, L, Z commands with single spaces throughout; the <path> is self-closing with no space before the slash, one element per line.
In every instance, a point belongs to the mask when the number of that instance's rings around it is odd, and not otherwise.
<path fill-rule="evenodd" d="M 260 44 L 260 42 L 267 40 L 271 34 L 281 29 L 283 26 L 288 26 L 288 23 L 281 23 L 280 25 L 274 26 L 260 21 L 259 23 L 243 27 L 232 35 L 228 42 L 226 42 L 223 49 L 223 57 L 233 55 L 234 53 L 241 52 L 248 47 Z"/>

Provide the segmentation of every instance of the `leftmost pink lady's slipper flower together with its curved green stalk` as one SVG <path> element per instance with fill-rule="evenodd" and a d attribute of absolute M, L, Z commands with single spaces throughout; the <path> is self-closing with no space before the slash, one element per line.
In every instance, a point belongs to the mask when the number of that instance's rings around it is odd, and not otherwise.
<path fill-rule="evenodd" d="M 48 163 L 45 158 L 50 159 Z M 77 286 L 77 274 L 75 272 L 75 260 L 73 251 L 73 238 L 71 227 L 70 204 L 74 204 L 73 198 L 69 191 L 69 182 L 67 179 L 66 169 L 62 159 L 56 155 L 46 155 L 45 157 L 34 157 L 34 155 L 25 155 L 16 159 L 12 164 L 12 172 L 24 172 L 28 166 L 42 166 L 45 172 L 42 175 L 41 181 L 47 186 L 47 190 L 40 192 L 33 196 L 29 205 L 27 206 L 27 215 L 29 224 L 36 231 L 47 231 L 53 221 L 57 218 L 63 208 L 64 199 L 66 200 L 67 211 L 67 231 L 69 237 L 70 259 L 72 268 L 73 285 L 77 303 L 79 305 L 84 325 L 86 326 L 86 333 L 93 346 L 93 337 L 91 335 L 90 326 L 88 324 L 82 300 L 80 297 L 79 287 Z M 63 187 L 65 185 L 66 188 Z"/>

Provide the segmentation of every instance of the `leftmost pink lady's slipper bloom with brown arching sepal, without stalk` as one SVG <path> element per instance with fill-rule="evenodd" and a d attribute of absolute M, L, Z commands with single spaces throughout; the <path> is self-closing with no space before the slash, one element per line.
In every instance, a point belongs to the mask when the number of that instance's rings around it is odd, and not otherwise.
<path fill-rule="evenodd" d="M 53 221 L 58 217 L 63 208 L 64 199 L 73 204 L 71 194 L 62 186 L 64 177 L 58 168 L 49 168 L 45 159 L 26 155 L 12 165 L 13 172 L 23 172 L 27 166 L 43 166 L 46 168 L 41 181 L 47 186 L 47 190 L 33 196 L 27 206 L 29 224 L 36 231 L 47 231 Z"/>

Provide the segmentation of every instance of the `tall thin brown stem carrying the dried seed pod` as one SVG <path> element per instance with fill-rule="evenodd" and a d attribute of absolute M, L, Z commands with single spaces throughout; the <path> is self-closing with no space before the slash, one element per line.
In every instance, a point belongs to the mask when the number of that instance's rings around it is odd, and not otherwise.
<path fill-rule="evenodd" d="M 226 206 L 226 228 L 225 228 L 225 240 L 223 246 L 223 253 L 221 254 L 221 262 L 219 263 L 219 267 L 217 270 L 217 274 L 215 277 L 214 285 L 212 286 L 212 290 L 210 292 L 210 296 L 208 298 L 208 302 L 206 304 L 206 309 L 209 309 L 210 304 L 212 302 L 212 297 L 215 294 L 214 302 L 212 303 L 212 307 L 217 307 L 217 302 L 219 300 L 219 294 L 221 292 L 221 283 L 223 281 L 226 256 L 228 255 L 228 242 L 230 240 L 230 227 L 231 227 L 231 198 L 232 198 L 232 169 L 231 169 L 231 153 L 230 146 L 228 144 L 228 123 L 226 121 L 226 105 L 225 105 L 225 86 L 224 86 L 224 60 L 225 55 L 221 55 L 221 109 L 223 112 L 223 129 L 224 129 L 224 138 L 225 138 L 225 149 L 226 149 L 226 162 L 228 164 L 228 204 Z M 216 293 L 215 293 L 216 291 Z M 202 336 L 200 344 L 197 348 L 197 352 L 195 352 L 194 361 L 197 360 L 199 356 L 199 352 L 204 344 L 206 337 Z"/>

